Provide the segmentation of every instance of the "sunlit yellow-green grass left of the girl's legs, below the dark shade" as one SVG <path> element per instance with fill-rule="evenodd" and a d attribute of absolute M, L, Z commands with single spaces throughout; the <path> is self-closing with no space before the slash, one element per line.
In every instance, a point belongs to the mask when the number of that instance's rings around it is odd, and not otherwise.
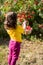
<path fill-rule="evenodd" d="M 1 45 L 0 46 L 0 65 L 8 65 L 7 56 L 8 56 L 8 46 Z"/>

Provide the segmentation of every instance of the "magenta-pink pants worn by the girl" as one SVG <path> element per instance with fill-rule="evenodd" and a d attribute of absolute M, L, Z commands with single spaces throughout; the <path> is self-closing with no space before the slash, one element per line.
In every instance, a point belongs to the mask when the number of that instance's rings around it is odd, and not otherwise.
<path fill-rule="evenodd" d="M 9 57 L 8 64 L 15 65 L 20 52 L 20 42 L 12 41 L 9 42 Z"/>

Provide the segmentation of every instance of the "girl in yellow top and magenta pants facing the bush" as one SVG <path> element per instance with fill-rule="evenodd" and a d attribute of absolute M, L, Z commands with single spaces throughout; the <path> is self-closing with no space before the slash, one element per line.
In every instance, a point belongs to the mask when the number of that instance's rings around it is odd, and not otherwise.
<path fill-rule="evenodd" d="M 14 12 L 6 14 L 4 27 L 10 36 L 8 64 L 15 65 L 20 53 L 21 34 L 24 33 L 24 29 L 17 25 L 17 14 Z"/>

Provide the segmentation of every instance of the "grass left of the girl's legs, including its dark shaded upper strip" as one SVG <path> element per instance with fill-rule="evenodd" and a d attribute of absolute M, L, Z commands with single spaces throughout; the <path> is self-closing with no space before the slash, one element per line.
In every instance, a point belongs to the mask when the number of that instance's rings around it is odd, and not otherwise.
<path fill-rule="evenodd" d="M 8 41 L 0 39 L 0 65 L 8 65 Z"/>

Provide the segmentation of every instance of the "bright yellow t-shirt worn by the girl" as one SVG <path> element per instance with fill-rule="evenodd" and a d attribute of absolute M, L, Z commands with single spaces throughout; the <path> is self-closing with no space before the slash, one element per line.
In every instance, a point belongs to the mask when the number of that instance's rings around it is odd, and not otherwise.
<path fill-rule="evenodd" d="M 22 42 L 21 34 L 24 33 L 22 26 L 18 25 L 16 29 L 7 29 L 7 33 L 12 40 Z"/>

